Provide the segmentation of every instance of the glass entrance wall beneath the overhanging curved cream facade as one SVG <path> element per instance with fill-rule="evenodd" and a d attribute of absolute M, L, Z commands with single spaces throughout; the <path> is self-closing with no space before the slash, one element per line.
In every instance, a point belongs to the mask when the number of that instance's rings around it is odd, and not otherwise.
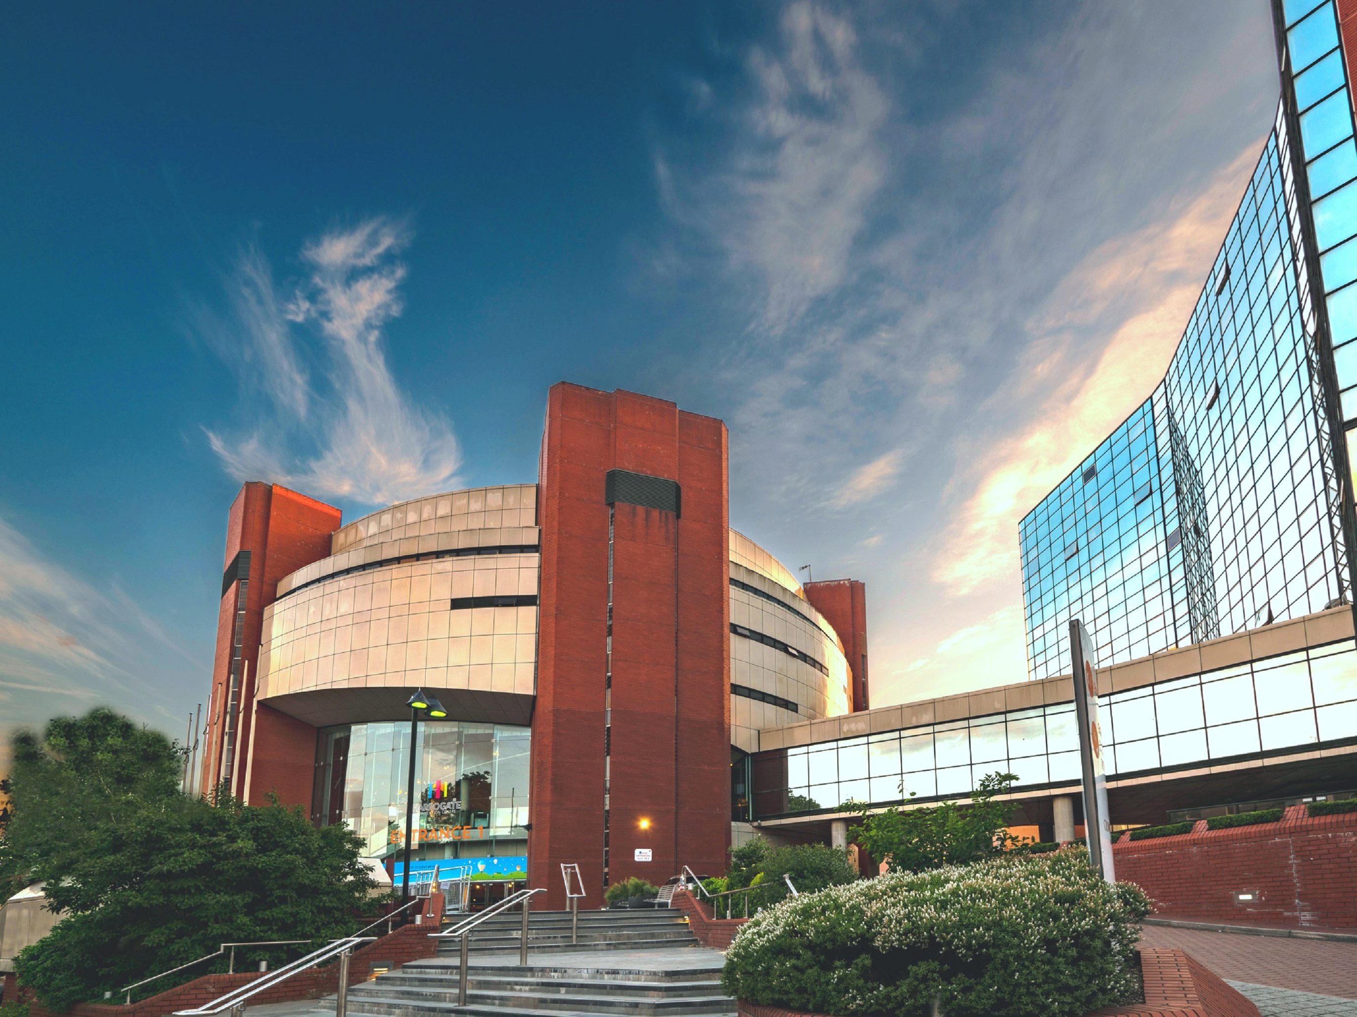
<path fill-rule="evenodd" d="M 495 841 L 522 848 L 528 819 L 531 730 L 471 721 L 421 721 L 415 757 L 415 848 L 425 857 L 479 857 Z M 351 724 L 320 732 L 316 815 L 345 823 L 364 854 L 404 849 L 410 723 Z M 438 850 L 446 845 L 452 850 Z M 433 849 L 432 852 L 429 849 Z M 419 857 L 417 854 L 417 857 Z"/>

